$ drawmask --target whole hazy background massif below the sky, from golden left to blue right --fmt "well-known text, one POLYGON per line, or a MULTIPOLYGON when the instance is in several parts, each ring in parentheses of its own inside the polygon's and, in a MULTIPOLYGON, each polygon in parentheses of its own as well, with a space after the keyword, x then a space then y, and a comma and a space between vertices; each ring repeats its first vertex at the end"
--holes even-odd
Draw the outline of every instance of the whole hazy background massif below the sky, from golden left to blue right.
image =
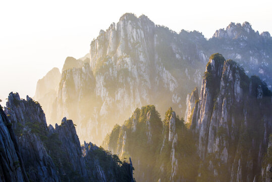
POLYGON ((67 58, 57 99, 41 105, 50 123, 72 118, 81 142, 99 145, 116 123, 143 105, 153 104, 161 113, 171 106, 177 114, 186 114, 187 120, 187 94, 195 86, 200 88, 206 61, 213 53, 235 60, 247 74, 265 79, 269 87, 271 48, 270 34, 255 32, 247 22, 231 23, 206 39, 197 31, 177 33, 144 15, 127 13, 99 32, 88 55, 67 58))

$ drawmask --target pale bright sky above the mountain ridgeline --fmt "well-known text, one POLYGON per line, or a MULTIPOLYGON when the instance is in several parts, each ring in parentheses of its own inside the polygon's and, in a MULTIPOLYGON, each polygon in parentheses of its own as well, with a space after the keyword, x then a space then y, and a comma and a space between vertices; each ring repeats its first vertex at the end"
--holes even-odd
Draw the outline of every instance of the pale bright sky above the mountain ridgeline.
MULTIPOLYGON (((36 82, 65 58, 83 57, 100 29, 127 12, 179 32, 198 30, 209 38, 230 22, 248 21, 272 34, 272 1, 0 1, 0 99, 10 92, 34 96, 36 82)), ((1 104, 1 103, 0 103, 1 104)))

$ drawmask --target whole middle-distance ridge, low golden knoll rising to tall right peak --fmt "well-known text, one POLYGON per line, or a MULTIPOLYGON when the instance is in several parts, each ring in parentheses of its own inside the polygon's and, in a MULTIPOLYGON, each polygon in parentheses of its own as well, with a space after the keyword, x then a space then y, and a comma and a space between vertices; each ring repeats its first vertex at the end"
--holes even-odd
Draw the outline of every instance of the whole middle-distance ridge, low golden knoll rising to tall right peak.
POLYGON ((172 108, 161 120, 145 106, 116 125, 103 147, 131 156, 139 181, 270 181, 271 96, 259 77, 214 54, 199 95, 196 87, 187 97, 186 121, 172 108))

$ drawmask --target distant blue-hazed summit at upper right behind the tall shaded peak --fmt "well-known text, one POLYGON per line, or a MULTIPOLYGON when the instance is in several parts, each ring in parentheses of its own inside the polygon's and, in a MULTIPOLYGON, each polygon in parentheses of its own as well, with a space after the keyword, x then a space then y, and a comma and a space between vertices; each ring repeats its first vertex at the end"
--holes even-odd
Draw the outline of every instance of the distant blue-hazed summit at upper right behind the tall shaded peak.
POLYGON ((270 88, 271 40, 269 32, 259 34, 248 22, 244 22, 242 25, 231 23, 226 29, 216 30, 209 42, 213 45, 213 53, 221 53, 234 60, 247 75, 258 75, 270 88))

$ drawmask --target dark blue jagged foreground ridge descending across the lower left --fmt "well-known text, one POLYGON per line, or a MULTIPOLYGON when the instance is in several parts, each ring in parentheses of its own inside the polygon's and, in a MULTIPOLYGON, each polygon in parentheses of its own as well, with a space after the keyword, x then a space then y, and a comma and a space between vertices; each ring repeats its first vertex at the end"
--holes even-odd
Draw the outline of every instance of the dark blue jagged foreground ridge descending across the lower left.
MULTIPOLYGON (((63 118, 61 125, 47 127, 40 104, 28 96, 27 100, 21 100, 18 93, 11 93, 6 105, 3 115, 7 122, 11 121, 8 126, 15 131, 13 140, 18 141, 19 147, 16 148, 16 144, 15 149, 9 149, 18 153, 17 158, 14 154, 9 156, 14 158, 10 161, 17 161, 14 162, 16 168, 3 166, 6 171, 2 173, 5 177, 13 175, 15 180, 4 181, 133 181, 132 163, 121 162, 118 156, 96 146, 92 152, 88 152, 90 148, 83 150, 72 120, 63 118), (20 179, 24 177, 24 170, 28 177, 20 179)), ((4 141, 6 146, 10 143, 4 141)))

